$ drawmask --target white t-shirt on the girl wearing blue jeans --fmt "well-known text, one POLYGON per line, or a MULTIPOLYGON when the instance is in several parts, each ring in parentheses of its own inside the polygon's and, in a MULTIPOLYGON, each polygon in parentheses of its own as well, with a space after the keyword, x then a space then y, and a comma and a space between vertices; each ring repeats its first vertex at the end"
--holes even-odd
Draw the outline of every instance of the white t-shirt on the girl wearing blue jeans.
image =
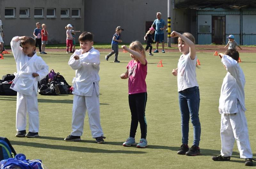
POLYGON ((178 92, 198 86, 196 81, 196 59, 190 59, 189 53, 181 55, 178 62, 178 92))

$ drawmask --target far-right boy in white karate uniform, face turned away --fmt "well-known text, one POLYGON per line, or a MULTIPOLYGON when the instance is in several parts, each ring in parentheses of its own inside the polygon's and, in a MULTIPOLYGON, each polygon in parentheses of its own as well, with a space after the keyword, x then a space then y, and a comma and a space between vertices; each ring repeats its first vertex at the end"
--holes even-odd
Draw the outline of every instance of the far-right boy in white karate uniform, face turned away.
POLYGON ((240 158, 245 158, 245 165, 252 166, 252 150, 249 142, 247 121, 244 114, 244 72, 238 65, 239 53, 236 49, 228 49, 219 57, 228 71, 220 91, 219 112, 221 114, 220 137, 221 151, 219 156, 213 156, 214 161, 229 161, 234 142, 240 158))

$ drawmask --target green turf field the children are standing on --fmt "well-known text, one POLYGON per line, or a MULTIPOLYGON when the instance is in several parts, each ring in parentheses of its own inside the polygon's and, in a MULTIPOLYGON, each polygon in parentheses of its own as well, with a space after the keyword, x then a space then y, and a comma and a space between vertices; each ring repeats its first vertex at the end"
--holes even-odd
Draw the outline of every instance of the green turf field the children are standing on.
MULTIPOLYGON (((242 168, 236 144, 229 162, 212 161, 219 155, 220 114, 218 112, 220 88, 226 70, 213 53, 198 53, 201 66, 196 69, 200 89, 201 155, 189 157, 177 155, 181 145, 180 110, 177 92, 177 77, 172 69, 177 67, 180 53, 154 53, 148 56, 146 118, 148 122, 148 148, 124 147, 129 136, 131 113, 128 104, 128 80, 120 74, 126 71, 131 60, 128 53, 119 53, 121 63, 113 63, 113 56, 105 60, 108 52, 100 54, 100 113, 105 144, 96 144, 89 130, 88 117, 84 123, 84 134, 79 142, 63 139, 71 132, 71 110, 73 95, 38 96, 40 115, 40 137, 15 137, 16 96, 0 96, 0 136, 7 137, 17 153, 29 159, 41 159, 50 168, 242 168), (164 67, 157 67, 159 60, 164 67)), ((256 153, 253 140, 255 128, 255 53, 240 53, 245 85, 246 117, 252 152, 256 153)), ((60 72, 71 84, 75 71, 68 66, 70 54, 52 52, 42 55, 50 69, 60 72)), ((16 71, 12 54, 4 54, 0 60, 1 76, 16 71)), ((28 131, 28 126, 27 126, 28 131)), ((138 127, 136 142, 140 139, 138 127)), ((193 141, 190 123, 189 146, 193 141)), ((253 154, 255 157, 255 154, 253 154)), ((256 163, 255 163, 256 164, 256 163)))

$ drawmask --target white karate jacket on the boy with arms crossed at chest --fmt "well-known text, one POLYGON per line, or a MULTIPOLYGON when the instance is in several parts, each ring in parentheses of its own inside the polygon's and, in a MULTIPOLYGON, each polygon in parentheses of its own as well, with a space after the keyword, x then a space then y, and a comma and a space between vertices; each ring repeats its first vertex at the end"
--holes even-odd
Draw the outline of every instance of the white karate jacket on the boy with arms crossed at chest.
POLYGON ((100 70, 100 52, 92 49, 82 54, 82 49, 76 50, 70 57, 68 65, 76 70, 76 77, 73 78, 73 94, 81 96, 92 96, 93 86, 95 85, 97 95, 99 90, 99 70, 100 70), (78 55, 80 59, 75 60, 78 55))

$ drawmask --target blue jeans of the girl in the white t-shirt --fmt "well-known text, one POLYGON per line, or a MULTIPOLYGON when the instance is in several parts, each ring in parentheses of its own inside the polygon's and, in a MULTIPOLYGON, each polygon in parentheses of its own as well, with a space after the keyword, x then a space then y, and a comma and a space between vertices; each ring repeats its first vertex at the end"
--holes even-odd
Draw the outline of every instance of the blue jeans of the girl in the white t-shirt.
POLYGON ((182 144, 188 144, 189 116, 194 128, 193 145, 199 147, 201 124, 199 121, 200 94, 197 86, 179 92, 182 144))

